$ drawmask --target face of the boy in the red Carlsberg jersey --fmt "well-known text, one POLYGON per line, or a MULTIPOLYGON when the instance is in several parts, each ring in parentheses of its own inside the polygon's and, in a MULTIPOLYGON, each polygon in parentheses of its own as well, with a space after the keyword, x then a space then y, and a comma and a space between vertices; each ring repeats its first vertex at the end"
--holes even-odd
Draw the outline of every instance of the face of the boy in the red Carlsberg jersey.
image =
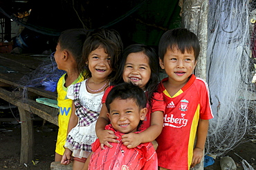
POLYGON ((173 50, 168 48, 163 61, 160 59, 160 65, 165 70, 171 83, 185 85, 196 66, 194 52, 185 50, 184 54, 182 54, 176 47, 173 50))

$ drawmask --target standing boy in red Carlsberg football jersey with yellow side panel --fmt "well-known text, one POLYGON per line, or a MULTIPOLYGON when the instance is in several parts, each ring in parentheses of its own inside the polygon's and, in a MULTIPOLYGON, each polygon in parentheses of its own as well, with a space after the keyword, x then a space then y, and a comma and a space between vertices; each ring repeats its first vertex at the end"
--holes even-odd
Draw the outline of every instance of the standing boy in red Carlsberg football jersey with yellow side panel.
POLYGON ((199 52, 199 40, 187 29, 168 30, 160 39, 160 65, 168 77, 158 87, 166 104, 156 138, 159 169, 188 170, 203 159, 213 116, 208 85, 192 74, 199 52))

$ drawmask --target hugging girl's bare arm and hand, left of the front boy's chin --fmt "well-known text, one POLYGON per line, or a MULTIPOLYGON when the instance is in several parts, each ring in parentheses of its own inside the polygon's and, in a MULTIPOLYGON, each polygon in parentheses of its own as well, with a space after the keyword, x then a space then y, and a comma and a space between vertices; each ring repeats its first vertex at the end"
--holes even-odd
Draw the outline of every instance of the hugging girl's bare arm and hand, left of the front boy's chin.
POLYGON ((111 130, 105 130, 105 126, 109 124, 109 118, 107 117, 107 107, 105 103, 102 104, 100 110, 100 116, 96 123, 96 134, 100 140, 100 147, 104 149, 104 145, 107 147, 112 147, 109 142, 119 142, 115 140, 117 136, 114 135, 114 132, 111 130))

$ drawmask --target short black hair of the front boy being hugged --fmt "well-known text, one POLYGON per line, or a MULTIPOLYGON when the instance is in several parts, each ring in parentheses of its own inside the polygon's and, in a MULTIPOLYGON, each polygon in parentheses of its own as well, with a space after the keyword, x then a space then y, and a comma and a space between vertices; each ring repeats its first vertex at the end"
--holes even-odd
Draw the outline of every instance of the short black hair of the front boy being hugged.
POLYGON ((143 89, 140 89, 138 85, 134 85, 132 83, 120 83, 119 85, 116 85, 110 90, 105 103, 108 111, 110 111, 109 105, 116 98, 122 100, 126 100, 129 98, 131 100, 134 100, 136 105, 138 105, 139 109, 143 109, 147 105, 147 99, 145 93, 143 92, 143 89))

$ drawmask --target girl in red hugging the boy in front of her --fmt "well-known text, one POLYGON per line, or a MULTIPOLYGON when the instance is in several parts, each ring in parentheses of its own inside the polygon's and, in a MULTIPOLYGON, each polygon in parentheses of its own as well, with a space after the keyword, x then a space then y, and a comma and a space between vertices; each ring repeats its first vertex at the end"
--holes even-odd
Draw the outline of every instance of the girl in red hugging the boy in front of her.
POLYGON ((122 52, 122 60, 118 72, 114 77, 113 83, 106 89, 102 97, 102 109, 96 123, 96 134, 100 139, 102 149, 104 145, 111 147, 109 142, 119 142, 112 131, 104 129, 109 124, 105 100, 113 85, 123 82, 131 82, 143 89, 147 96, 147 116, 143 120, 143 125, 141 125, 146 130, 140 134, 125 134, 122 136, 122 142, 127 148, 134 148, 145 142, 154 142, 154 147, 157 147, 155 139, 163 128, 163 111, 165 111, 163 95, 156 92, 159 83, 158 63, 156 52, 147 45, 132 44, 122 52))

